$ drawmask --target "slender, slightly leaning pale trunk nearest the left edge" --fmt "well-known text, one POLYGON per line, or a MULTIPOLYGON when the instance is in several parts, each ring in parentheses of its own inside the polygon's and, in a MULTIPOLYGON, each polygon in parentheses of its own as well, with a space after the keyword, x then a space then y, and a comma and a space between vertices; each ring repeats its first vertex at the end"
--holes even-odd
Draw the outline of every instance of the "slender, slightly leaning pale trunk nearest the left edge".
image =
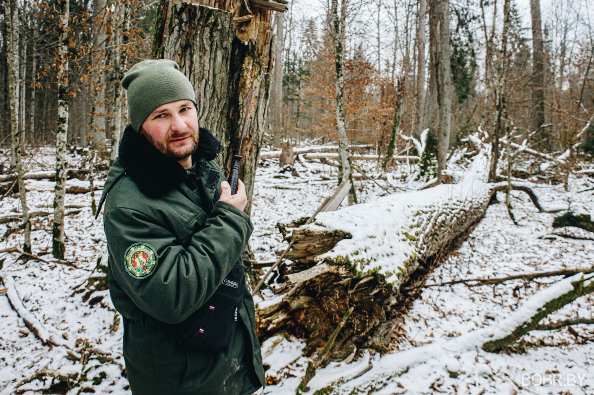
POLYGON ((21 200, 21 211, 23 212, 24 242, 23 251, 31 252, 31 221, 29 209, 27 208, 27 196, 24 187, 24 169, 22 163, 23 145, 21 144, 21 129, 18 128, 18 8, 17 2, 7 0, 4 2, 4 17, 6 21, 6 55, 8 66, 8 95, 10 106, 10 129, 12 143, 12 158, 17 171, 19 197, 21 200))

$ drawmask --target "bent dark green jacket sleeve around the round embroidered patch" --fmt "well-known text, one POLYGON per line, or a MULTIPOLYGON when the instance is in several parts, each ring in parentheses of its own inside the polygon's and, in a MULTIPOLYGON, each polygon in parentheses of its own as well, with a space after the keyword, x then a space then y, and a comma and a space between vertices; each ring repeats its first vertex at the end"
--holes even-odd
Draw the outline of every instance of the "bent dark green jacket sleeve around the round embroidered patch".
POLYGON ((169 324, 184 321, 214 294, 254 230, 247 214, 220 201, 187 248, 176 244, 171 231, 134 209, 109 211, 104 226, 110 270, 118 283, 140 310, 169 324), (156 251, 157 265, 144 278, 126 269, 126 251, 135 243, 156 251))

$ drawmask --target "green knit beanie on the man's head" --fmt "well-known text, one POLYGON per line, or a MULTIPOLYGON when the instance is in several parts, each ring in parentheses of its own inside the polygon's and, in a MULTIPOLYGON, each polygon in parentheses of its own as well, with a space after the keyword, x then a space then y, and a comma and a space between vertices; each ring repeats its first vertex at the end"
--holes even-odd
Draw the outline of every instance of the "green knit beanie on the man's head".
POLYGON ((128 116, 137 132, 150 113, 165 103, 191 100, 197 104, 194 87, 173 60, 136 63, 122 79, 122 87, 127 91, 128 116))

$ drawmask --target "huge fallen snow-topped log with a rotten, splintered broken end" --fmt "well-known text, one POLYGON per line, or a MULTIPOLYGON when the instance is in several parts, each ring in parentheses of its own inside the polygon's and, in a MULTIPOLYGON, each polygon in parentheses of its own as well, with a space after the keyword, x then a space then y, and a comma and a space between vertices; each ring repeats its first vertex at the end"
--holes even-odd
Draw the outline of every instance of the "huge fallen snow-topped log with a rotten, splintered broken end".
POLYGON ((258 305, 260 335, 286 330, 315 348, 354 306, 335 349, 385 348, 403 284, 484 215, 492 195, 487 168, 481 152, 456 184, 321 212, 309 225, 279 224, 294 242, 286 254, 292 271, 301 272, 289 273, 284 292, 258 305))

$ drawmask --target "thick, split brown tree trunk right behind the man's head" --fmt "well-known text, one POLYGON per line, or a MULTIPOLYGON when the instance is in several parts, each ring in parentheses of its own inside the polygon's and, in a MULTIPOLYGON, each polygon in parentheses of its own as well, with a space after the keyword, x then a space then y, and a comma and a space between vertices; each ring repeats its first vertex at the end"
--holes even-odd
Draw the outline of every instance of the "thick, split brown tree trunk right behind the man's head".
POLYGON ((220 8, 162 0, 157 11, 153 58, 175 60, 194 85, 198 100, 198 124, 211 130, 223 144, 217 157, 229 174, 239 144, 245 98, 254 82, 254 117, 246 129, 239 177, 244 181, 251 211, 254 177, 266 125, 272 74, 271 10, 254 8, 244 15, 242 0, 228 0, 220 8), (204 40, 208 37, 208 40, 204 40))

